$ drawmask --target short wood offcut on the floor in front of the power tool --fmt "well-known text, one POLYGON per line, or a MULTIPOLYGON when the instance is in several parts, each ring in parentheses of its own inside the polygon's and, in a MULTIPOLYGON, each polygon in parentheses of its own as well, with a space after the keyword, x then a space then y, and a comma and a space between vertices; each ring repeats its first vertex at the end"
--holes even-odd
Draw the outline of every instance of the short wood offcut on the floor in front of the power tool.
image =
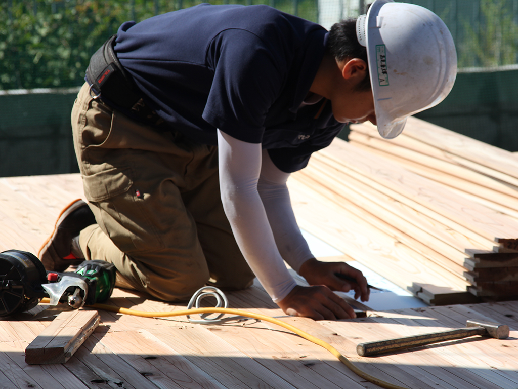
POLYGON ((65 363, 99 325, 97 311, 61 312, 25 349, 28 365, 65 363))

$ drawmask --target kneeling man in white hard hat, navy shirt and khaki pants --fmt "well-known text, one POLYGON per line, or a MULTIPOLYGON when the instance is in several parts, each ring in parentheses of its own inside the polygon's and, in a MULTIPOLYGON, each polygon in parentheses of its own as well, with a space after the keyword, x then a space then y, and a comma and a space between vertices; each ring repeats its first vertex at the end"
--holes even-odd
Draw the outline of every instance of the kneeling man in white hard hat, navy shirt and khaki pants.
POLYGON ((455 74, 444 23, 392 0, 330 32, 264 5, 126 22, 93 55, 72 112, 89 204, 66 207, 39 258, 48 270, 111 262, 119 286, 166 301, 257 277, 287 314, 355 317, 332 290, 366 301, 365 277, 314 258, 286 180, 344 123, 396 136, 455 74))

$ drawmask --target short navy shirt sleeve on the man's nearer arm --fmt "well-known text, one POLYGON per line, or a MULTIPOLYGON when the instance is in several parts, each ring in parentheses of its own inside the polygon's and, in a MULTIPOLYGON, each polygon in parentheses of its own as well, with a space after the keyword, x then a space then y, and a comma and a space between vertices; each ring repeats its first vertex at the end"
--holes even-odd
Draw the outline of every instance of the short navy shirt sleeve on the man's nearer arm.
POLYGON ((286 59, 278 51, 246 30, 215 37, 207 51, 214 78, 204 120, 240 141, 261 143, 266 114, 286 78, 286 59))

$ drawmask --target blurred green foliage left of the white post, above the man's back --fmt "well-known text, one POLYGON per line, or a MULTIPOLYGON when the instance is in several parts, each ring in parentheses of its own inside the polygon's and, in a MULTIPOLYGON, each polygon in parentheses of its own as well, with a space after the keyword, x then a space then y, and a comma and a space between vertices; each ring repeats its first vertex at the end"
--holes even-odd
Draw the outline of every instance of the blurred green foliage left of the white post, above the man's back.
MULTIPOLYGON (((191 7, 201 0, 0 0, 0 90, 80 86, 91 55, 127 20, 191 7)), ((212 0, 212 4, 228 0, 212 0)), ((316 21, 316 0, 270 4, 316 21)))

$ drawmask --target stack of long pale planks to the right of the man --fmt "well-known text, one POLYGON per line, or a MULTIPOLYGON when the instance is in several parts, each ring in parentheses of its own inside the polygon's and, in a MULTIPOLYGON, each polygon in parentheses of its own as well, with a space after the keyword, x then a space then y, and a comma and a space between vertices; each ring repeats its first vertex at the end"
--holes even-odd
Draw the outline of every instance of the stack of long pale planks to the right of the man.
POLYGON ((301 227, 430 304, 516 297, 518 158, 416 118, 394 140, 369 124, 293 175, 301 227))

